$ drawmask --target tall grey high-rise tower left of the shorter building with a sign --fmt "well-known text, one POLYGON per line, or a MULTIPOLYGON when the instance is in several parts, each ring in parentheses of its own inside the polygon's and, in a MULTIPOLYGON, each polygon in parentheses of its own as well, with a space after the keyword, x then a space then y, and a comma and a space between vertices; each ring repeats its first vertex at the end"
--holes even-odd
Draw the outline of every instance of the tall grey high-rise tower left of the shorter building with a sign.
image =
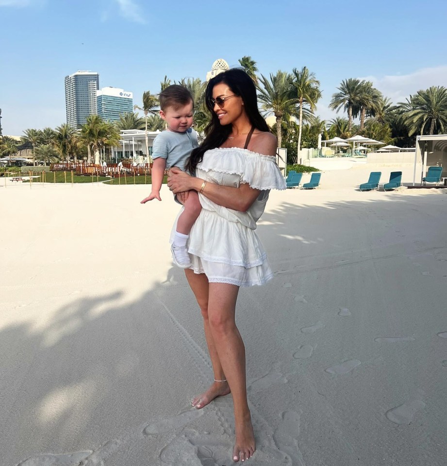
POLYGON ((96 91, 99 89, 99 74, 92 71, 77 71, 65 77, 65 106, 67 123, 79 128, 87 116, 97 115, 96 91))

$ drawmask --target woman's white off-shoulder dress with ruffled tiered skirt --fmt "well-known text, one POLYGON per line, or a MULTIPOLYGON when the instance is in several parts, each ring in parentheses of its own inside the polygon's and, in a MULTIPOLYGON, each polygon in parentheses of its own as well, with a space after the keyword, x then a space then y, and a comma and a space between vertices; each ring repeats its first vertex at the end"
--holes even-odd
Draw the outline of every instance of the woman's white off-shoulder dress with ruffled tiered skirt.
MULTIPOLYGON (((275 157, 240 148, 207 150, 197 166, 196 176, 224 186, 248 183, 261 193, 247 212, 223 207, 199 194, 202 210, 187 242, 190 268, 195 273, 205 273, 210 283, 252 286, 270 280, 273 273, 254 230, 270 189, 286 188, 275 157)), ((182 211, 183 208, 179 216, 182 211)), ((177 219, 171 243, 176 227, 177 219)))

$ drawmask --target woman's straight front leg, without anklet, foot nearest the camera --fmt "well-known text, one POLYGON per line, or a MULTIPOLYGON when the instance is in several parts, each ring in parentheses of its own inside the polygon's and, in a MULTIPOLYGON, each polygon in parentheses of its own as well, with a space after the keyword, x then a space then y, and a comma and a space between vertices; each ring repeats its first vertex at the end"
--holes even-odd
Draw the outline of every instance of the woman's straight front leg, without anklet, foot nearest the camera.
POLYGON ((236 433, 233 460, 245 461, 255 450, 255 440, 247 402, 245 347, 235 322, 239 287, 228 283, 208 286, 209 329, 233 397, 236 433))

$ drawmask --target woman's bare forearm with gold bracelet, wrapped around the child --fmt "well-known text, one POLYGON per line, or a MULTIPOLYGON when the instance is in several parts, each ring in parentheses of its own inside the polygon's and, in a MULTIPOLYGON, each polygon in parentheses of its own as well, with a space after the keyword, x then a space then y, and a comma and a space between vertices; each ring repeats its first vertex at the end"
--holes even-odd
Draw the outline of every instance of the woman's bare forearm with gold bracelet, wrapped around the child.
MULTIPOLYGON (((200 192, 204 180, 190 176, 177 167, 169 170, 170 176, 167 185, 174 194, 189 191, 191 189, 200 192)), ((232 186, 222 186, 220 184, 207 182, 202 194, 218 205, 229 209, 246 212, 251 204, 256 200, 261 191, 250 188, 247 183, 241 184, 238 188, 232 186)))

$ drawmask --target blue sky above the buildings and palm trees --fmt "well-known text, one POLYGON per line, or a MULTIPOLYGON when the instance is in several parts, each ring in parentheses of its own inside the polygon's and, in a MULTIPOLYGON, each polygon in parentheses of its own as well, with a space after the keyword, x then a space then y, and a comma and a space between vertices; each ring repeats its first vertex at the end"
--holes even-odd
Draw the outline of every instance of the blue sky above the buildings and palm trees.
POLYGON ((0 0, 3 134, 66 122, 64 77, 79 69, 141 104, 165 75, 205 80, 217 58, 237 66, 244 55, 264 75, 315 72, 322 118, 347 78, 402 101, 447 86, 446 18, 446 0, 0 0))

